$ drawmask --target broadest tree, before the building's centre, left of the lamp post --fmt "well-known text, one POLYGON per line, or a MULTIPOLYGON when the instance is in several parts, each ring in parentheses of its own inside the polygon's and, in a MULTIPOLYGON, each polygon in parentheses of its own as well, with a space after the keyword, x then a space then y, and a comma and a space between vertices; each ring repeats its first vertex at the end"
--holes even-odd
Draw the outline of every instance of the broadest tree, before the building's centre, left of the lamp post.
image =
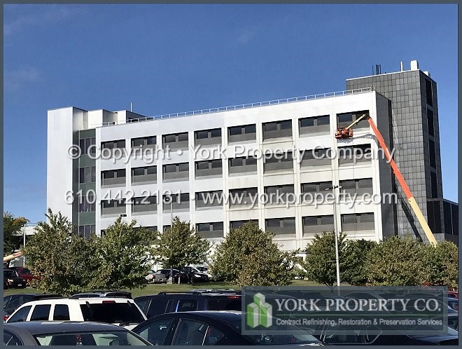
POLYGON ((297 251, 281 251, 273 237, 250 221, 231 229, 212 256, 212 270, 241 286, 288 285, 297 251))

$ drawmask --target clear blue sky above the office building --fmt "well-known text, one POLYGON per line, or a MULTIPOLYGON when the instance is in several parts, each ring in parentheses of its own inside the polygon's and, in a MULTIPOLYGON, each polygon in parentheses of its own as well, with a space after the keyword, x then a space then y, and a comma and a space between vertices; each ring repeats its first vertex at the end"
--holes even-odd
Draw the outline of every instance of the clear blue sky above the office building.
POLYGON ((4 210, 45 219, 47 110, 147 116, 345 90, 409 69, 437 82, 444 197, 457 200, 457 6, 4 5, 4 210))

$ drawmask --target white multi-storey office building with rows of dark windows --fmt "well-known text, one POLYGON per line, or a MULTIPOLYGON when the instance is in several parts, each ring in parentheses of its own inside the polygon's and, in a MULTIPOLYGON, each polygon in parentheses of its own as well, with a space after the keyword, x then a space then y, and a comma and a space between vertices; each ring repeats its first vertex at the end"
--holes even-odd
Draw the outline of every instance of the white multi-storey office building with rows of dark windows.
MULTIPOLYGON (((363 114, 391 149, 407 137, 395 131, 393 96, 371 86, 155 117, 50 110, 47 205, 71 217, 85 236, 104 232, 118 217, 162 231, 175 216, 217 242, 230 228, 255 221, 284 249, 304 248, 316 233, 334 229, 371 240, 411 233, 367 121, 355 126, 353 139, 334 137, 337 126, 363 114), (332 200, 332 191, 343 196, 332 200)), ((437 113, 434 123, 436 142, 437 113)), ((415 169, 430 173, 430 159, 421 167, 400 156, 405 178, 415 169)), ((434 160, 440 165, 439 153, 434 160)))

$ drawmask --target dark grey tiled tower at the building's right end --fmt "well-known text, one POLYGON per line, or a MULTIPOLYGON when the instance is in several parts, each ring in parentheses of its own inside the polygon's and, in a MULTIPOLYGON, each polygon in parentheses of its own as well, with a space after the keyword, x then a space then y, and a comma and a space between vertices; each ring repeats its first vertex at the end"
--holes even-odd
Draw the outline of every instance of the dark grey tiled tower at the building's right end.
MULTIPOLYGON (((348 79, 346 88, 372 87, 391 101, 394 159, 436 240, 442 241, 448 237, 444 236, 437 88, 413 62, 412 70, 348 79)), ((427 241, 399 184, 395 192, 401 198, 399 234, 427 241)))

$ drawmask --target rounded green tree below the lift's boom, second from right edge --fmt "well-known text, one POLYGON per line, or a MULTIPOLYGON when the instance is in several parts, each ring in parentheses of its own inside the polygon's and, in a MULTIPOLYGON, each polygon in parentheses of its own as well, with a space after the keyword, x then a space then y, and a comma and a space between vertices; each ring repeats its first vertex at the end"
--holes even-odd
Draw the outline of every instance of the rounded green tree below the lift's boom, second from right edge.
POLYGON ((416 286, 428 278, 423 264, 426 247, 411 236, 387 238, 370 252, 367 265, 371 285, 416 286))

